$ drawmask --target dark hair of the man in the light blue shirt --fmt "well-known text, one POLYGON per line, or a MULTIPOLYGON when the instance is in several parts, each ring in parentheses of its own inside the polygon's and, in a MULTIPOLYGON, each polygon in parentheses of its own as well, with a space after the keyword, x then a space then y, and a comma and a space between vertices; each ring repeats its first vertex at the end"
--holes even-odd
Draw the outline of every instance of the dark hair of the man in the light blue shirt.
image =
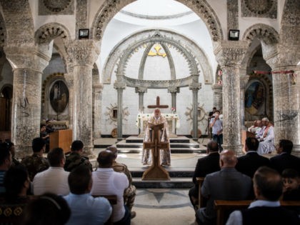
POLYGON ((76 166, 68 177, 68 184, 72 194, 84 194, 91 182, 91 171, 86 165, 76 166))

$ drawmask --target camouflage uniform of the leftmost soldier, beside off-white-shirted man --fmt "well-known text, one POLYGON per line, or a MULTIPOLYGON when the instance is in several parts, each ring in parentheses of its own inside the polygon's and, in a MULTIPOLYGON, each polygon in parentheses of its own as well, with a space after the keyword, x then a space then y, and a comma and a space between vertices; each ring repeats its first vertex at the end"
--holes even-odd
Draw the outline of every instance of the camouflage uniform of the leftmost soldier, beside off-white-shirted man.
POLYGON ((22 159, 21 164, 28 170, 29 179, 31 181, 34 180, 34 176, 36 176, 37 173, 49 168, 48 160, 35 153, 32 154, 32 156, 26 156, 22 159))

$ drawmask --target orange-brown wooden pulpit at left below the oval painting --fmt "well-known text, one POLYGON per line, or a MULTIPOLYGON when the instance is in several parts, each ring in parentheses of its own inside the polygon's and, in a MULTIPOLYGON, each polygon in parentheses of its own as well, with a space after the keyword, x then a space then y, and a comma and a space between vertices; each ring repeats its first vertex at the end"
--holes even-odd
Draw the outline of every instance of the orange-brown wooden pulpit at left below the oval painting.
POLYGON ((50 150, 54 148, 64 149, 64 153, 71 151, 72 130, 58 130, 49 134, 50 150))

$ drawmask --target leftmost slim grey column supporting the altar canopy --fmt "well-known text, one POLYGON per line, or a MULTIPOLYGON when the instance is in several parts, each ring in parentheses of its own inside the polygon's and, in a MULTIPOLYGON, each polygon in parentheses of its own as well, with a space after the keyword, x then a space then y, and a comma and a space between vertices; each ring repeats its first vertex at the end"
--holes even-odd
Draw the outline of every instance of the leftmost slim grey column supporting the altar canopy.
POLYGON ((126 88, 126 84, 121 81, 114 83, 114 89, 117 91, 117 139, 121 141, 123 139, 123 90, 126 88))

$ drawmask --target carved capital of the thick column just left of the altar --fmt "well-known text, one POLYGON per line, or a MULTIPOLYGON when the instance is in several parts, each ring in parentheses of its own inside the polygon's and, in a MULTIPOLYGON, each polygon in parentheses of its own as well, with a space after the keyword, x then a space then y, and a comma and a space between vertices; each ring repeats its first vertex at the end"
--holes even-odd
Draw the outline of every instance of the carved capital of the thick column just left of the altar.
POLYGON ((68 61, 73 65, 93 66, 100 54, 99 43, 94 40, 70 40, 66 46, 68 61))

